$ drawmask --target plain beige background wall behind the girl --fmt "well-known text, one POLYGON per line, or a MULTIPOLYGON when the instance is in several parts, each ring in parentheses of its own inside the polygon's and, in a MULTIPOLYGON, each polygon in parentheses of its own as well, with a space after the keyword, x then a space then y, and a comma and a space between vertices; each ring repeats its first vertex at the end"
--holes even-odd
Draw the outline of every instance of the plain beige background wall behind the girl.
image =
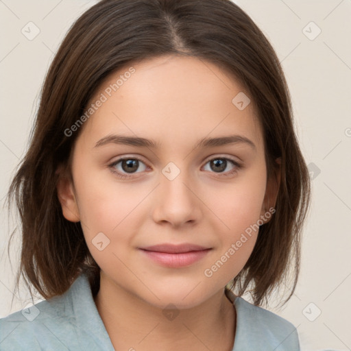
MULTIPOLYGON (((96 2, 0 0, 1 206, 27 147, 53 54, 73 21, 96 2), (38 35, 28 38, 28 32, 38 35)), ((291 90, 295 129, 313 179, 298 287, 283 308, 270 309, 298 328, 302 350, 350 350, 351 1, 234 2, 278 53, 291 90)), ((11 308, 21 243, 17 234, 12 270, 6 209, 0 220, 0 317, 5 317, 24 308, 29 295, 23 289, 16 293, 11 308)))

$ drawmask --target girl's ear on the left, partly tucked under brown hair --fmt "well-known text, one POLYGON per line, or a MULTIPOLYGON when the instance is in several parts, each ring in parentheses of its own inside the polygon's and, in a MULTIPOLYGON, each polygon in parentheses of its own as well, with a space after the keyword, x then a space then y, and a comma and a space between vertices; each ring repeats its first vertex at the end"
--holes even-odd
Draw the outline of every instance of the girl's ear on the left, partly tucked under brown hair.
POLYGON ((73 181, 67 173, 62 165, 56 170, 56 174, 58 174, 58 200, 60 201, 64 218, 71 222, 79 222, 80 215, 73 190, 73 181))

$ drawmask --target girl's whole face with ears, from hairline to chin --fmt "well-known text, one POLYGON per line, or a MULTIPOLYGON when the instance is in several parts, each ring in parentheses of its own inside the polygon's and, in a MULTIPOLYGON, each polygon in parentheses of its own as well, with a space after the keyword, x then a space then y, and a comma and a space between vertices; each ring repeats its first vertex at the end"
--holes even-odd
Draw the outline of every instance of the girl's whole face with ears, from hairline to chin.
POLYGON ((73 183, 58 186, 62 211, 119 289, 190 308, 239 274, 271 217, 263 131, 249 94, 210 62, 164 56, 133 68, 89 103, 73 183))

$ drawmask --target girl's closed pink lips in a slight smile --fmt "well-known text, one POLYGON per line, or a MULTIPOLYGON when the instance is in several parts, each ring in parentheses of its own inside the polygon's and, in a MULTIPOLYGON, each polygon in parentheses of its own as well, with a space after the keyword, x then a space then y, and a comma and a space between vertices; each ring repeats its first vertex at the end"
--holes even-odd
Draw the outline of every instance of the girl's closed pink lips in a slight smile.
POLYGON ((201 260, 212 248, 185 243, 181 245, 160 244, 140 247, 139 250, 159 265, 180 268, 201 260))

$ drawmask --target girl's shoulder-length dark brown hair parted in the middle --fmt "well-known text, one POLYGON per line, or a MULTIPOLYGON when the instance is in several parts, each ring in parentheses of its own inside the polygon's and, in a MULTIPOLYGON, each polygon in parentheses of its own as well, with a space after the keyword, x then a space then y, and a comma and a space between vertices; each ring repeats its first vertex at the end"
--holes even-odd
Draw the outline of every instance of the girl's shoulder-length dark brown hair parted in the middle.
POLYGON ((237 295, 251 287, 254 304, 260 305, 292 267, 287 300, 291 298, 311 196, 308 169, 276 53, 252 19, 229 0, 103 0, 75 21, 45 78, 29 149, 8 191, 9 208, 14 199, 22 227, 17 288, 22 275, 31 295, 30 283, 49 299, 86 271, 93 294, 99 289, 100 269, 82 227, 63 217, 58 200, 56 171, 62 165, 71 177, 71 150, 82 128, 69 137, 64 131, 84 114, 108 75, 132 62, 169 54, 224 67, 250 93, 263 126, 267 176, 274 174, 280 158, 281 182, 276 213, 261 226, 233 284, 237 295))

